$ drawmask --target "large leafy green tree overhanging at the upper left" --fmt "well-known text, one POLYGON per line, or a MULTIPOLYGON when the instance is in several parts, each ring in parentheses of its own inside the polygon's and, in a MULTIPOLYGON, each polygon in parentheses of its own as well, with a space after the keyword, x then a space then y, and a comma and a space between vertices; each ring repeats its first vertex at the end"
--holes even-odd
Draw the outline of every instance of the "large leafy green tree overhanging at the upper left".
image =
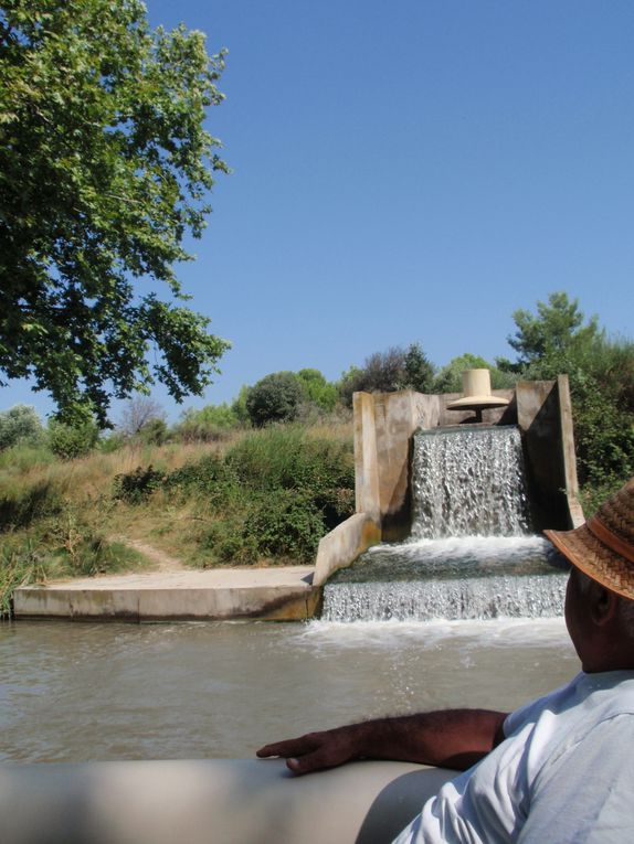
POLYGON ((228 170, 203 129, 223 63, 140 0, 0 2, 0 376, 62 418, 106 425, 112 394, 182 400, 218 371, 228 343, 173 265, 228 170))

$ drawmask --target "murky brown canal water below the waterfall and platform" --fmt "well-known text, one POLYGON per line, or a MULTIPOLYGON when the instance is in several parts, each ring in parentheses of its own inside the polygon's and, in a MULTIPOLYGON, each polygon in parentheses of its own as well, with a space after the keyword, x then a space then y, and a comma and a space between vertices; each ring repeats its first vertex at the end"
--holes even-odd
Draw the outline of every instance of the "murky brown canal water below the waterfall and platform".
POLYGON ((513 708, 578 670, 561 619, 0 623, 0 760, 244 758, 366 716, 513 708))

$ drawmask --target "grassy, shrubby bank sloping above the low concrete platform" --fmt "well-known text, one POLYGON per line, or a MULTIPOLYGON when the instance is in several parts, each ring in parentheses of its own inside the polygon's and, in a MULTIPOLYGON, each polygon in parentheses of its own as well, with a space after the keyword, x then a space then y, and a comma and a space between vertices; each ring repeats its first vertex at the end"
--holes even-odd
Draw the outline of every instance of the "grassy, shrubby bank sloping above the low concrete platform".
POLYGON ((147 566, 131 543, 198 567, 310 563, 353 512, 353 488, 351 426, 341 423, 67 461, 10 449, 0 462, 0 615, 20 584, 147 566))

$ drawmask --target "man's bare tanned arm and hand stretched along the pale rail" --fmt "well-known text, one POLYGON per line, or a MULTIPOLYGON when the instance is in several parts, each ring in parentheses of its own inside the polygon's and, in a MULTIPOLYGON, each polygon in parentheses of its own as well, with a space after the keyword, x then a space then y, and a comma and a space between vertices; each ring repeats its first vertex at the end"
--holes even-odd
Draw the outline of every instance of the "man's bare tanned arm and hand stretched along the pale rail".
POLYGON ((465 770, 504 739, 505 718, 506 713, 490 709, 381 718, 265 745, 257 756, 281 756, 294 773, 334 768, 352 759, 390 759, 465 770))

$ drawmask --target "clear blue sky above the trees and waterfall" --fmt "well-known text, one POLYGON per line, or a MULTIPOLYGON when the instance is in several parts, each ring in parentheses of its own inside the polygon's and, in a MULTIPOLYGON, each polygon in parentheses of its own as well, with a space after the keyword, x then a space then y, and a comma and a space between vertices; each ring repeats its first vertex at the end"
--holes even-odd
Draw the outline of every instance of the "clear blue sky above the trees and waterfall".
MULTIPOLYGON (((513 311, 554 290, 632 336, 631 0, 147 6, 230 51, 209 129, 233 173, 181 279, 233 349, 183 407, 415 341, 437 365, 513 356, 513 311)), ((0 391, 18 402, 51 410, 0 391)))

